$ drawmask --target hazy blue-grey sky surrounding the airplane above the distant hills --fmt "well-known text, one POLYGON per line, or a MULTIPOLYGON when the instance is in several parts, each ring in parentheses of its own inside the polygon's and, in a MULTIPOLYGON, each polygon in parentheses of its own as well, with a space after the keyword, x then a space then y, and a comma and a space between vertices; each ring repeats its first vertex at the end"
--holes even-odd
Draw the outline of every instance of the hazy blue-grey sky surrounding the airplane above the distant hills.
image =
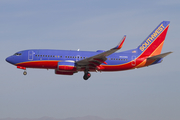
POLYGON ((95 115, 125 120, 180 118, 178 0, 1 0, 0 118, 95 115), (122 72, 55 75, 22 70, 5 58, 25 49, 108 50, 137 47, 163 20, 170 27, 161 64, 122 72))

